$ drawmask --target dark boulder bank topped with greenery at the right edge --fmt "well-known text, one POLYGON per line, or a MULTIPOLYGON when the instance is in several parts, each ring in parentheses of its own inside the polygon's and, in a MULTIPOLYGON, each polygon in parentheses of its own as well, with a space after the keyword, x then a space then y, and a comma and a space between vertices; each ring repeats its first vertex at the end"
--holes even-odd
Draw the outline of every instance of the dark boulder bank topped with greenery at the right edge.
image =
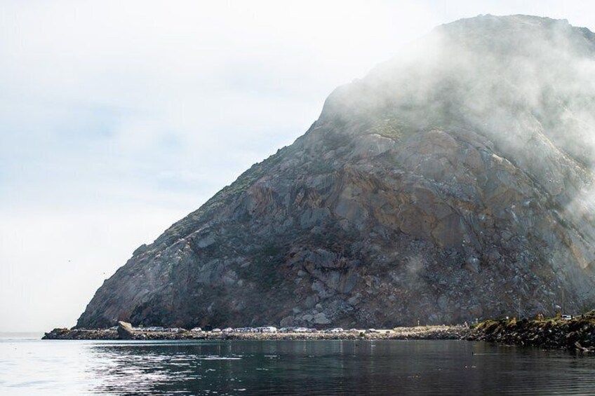
POLYGON ((466 339, 595 352, 595 311, 570 320, 487 320, 474 327, 466 339))

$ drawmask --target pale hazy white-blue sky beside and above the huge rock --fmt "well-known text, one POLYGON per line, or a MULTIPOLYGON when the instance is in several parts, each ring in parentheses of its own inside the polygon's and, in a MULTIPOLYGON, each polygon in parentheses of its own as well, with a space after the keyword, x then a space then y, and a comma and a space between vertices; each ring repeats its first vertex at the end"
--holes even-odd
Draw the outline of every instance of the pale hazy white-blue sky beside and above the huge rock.
POLYGON ((142 243, 432 27, 592 1, 0 0, 0 332, 70 327, 142 243))

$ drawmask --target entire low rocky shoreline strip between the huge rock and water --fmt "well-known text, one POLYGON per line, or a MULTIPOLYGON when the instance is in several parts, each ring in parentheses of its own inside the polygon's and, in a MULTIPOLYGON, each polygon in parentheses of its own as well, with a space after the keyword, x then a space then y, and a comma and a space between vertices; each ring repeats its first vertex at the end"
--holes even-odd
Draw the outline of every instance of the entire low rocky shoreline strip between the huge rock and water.
POLYGON ((310 332, 141 331, 119 322, 111 329, 53 329, 44 340, 465 340, 509 346, 595 352, 595 310, 565 318, 486 320, 463 325, 395 327, 394 329, 314 330, 310 332))

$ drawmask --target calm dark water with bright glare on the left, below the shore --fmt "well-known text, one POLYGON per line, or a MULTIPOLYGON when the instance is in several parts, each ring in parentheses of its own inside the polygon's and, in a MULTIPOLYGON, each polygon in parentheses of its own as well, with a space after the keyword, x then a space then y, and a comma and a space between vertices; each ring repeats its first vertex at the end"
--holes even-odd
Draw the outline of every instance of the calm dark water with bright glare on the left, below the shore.
POLYGON ((0 339, 0 395, 595 394, 595 356, 467 341, 0 339))

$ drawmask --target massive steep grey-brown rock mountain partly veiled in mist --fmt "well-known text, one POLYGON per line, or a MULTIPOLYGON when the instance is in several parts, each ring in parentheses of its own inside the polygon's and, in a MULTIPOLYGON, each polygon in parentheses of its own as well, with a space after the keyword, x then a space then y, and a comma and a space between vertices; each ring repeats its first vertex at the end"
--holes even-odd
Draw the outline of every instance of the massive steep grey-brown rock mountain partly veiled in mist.
POLYGON ((481 16, 335 90, 173 224, 78 327, 394 326, 595 301, 595 35, 481 16))

